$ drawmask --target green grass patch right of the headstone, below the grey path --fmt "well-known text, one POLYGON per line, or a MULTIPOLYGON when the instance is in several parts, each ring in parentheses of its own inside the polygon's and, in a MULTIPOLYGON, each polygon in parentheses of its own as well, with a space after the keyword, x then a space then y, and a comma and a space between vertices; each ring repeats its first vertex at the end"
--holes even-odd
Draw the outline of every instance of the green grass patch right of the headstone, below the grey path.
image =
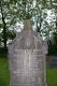
POLYGON ((57 86, 57 69, 47 69, 47 86, 57 86))

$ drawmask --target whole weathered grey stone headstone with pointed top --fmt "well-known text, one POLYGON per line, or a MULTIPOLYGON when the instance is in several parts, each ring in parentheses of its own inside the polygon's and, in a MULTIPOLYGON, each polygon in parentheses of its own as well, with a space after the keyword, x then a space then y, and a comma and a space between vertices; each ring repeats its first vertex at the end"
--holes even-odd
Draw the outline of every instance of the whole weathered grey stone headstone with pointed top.
POLYGON ((46 86, 46 44, 31 29, 30 20, 9 45, 10 86, 46 86))

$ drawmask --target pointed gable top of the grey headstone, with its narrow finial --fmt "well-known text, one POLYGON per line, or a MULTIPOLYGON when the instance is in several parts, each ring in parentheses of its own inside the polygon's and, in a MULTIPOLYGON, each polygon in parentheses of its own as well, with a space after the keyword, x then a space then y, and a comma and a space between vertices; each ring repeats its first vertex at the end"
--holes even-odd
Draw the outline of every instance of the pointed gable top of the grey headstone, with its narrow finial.
POLYGON ((17 34, 15 40, 12 43, 11 48, 14 49, 42 49, 43 41, 40 37, 40 33, 37 34, 31 29, 30 19, 25 20, 25 29, 17 34))

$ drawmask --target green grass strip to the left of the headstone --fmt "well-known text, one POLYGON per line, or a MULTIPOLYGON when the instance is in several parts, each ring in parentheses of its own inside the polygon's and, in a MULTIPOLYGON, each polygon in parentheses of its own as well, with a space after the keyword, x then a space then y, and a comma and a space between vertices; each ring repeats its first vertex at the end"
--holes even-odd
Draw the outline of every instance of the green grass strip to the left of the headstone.
POLYGON ((10 73, 9 73, 9 63, 8 58, 0 56, 0 86, 9 86, 10 73))

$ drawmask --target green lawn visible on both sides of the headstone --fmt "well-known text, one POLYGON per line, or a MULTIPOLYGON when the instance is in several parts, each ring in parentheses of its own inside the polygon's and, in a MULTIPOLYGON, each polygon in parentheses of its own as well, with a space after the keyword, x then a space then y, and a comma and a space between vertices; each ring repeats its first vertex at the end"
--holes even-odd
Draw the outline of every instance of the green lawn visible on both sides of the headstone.
MULTIPOLYGON (((47 69, 47 86, 57 86, 57 69, 47 69)), ((10 71, 6 55, 0 55, 0 86, 9 86, 10 71)))

